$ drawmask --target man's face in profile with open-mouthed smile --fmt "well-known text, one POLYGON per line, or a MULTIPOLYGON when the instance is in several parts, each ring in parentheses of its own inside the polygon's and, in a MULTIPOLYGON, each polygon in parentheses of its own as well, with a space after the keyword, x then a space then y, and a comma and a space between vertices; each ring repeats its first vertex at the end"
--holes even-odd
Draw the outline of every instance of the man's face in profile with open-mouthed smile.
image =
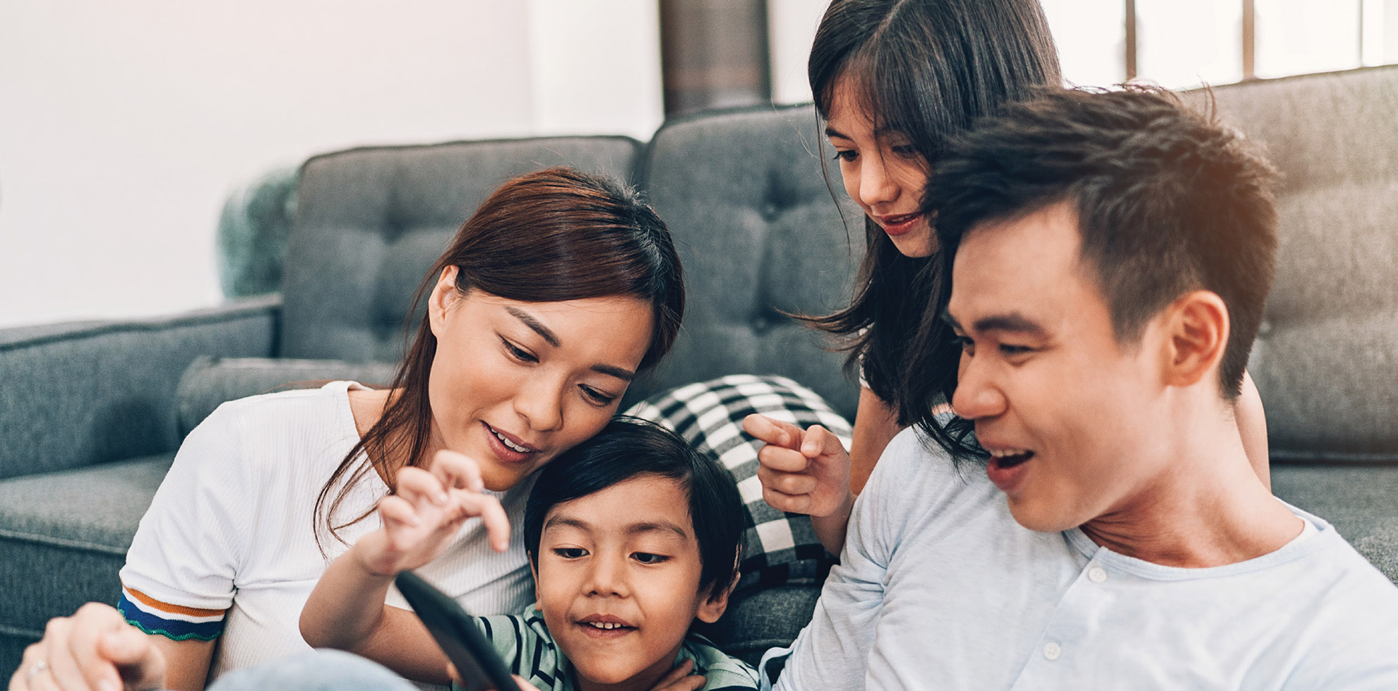
POLYGON ((1067 530, 1125 511, 1167 470, 1159 329, 1120 346, 1067 203, 962 241, 948 316, 962 340, 952 407, 991 452, 1015 520, 1067 530))

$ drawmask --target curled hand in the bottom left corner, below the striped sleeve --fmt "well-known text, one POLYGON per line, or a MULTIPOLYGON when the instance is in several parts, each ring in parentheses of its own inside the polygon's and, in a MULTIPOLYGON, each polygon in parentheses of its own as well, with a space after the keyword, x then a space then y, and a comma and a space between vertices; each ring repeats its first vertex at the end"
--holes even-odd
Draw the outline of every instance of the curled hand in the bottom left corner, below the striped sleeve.
POLYGON ((120 691, 165 688, 165 656, 122 613, 87 603, 49 620, 43 639, 24 650, 10 691, 120 691))

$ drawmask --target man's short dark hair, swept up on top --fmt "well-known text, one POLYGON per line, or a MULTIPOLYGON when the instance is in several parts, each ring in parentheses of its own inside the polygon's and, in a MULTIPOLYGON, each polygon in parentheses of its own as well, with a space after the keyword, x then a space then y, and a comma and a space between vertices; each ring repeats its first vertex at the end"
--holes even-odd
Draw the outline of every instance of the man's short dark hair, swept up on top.
MULTIPOLYGON (((942 290, 923 318, 909 375, 944 389, 924 389, 924 400, 951 400, 958 354, 935 325, 960 239, 1064 201, 1076 211, 1082 257, 1096 270, 1118 343, 1139 341, 1184 292, 1223 298, 1232 330, 1219 387, 1236 399, 1276 267, 1274 179, 1257 147, 1160 88, 1044 90, 1008 106, 960 137, 928 180, 925 210, 937 214, 941 246, 930 269, 942 290)), ((920 424, 937 422, 928 413, 920 424)))

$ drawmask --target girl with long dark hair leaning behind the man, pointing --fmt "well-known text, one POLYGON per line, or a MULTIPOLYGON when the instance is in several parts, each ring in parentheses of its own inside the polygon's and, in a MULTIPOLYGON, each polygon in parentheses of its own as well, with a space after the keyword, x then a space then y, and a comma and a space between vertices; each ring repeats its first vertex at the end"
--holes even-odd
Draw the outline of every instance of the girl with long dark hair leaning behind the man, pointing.
MULTIPOLYGON (((867 214, 867 253, 851 305, 811 319, 851 339, 849 361, 861 375, 854 439, 846 453, 823 428, 801 431, 761 415, 744 427, 768 442, 758 473, 768 504, 809 513, 821 541, 837 554, 854 495, 884 448, 930 403, 944 403, 921 400, 902 379, 932 298, 925 270, 937 238, 921 214, 928 171, 945 143, 977 117, 1062 77, 1036 0, 833 0, 808 73, 844 190, 867 214)), ((949 330, 945 336, 951 341, 949 330)), ((1251 378, 1236 417, 1248 459, 1269 484, 1267 422, 1251 378)), ((927 432, 956 448, 967 431, 952 424, 927 432)))

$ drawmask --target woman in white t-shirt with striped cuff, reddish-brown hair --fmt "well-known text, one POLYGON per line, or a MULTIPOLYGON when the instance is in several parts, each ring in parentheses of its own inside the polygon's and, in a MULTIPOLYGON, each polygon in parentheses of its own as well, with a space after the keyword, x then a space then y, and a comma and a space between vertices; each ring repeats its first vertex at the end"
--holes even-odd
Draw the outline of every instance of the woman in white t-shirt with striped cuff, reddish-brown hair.
MULTIPOLYGON (((607 424, 684 312, 679 259, 654 211, 563 168, 491 194, 433 264, 424 298, 391 387, 333 382, 243 399, 192 432, 122 569, 122 613, 148 636, 87 606, 82 622, 50 624, 15 680, 119 684, 95 660, 105 650, 192 690, 309 649, 302 604, 326 564, 377 527, 375 504, 401 469, 466 453, 491 491, 487 522, 517 523, 531 473, 607 424)), ((480 611, 533 599, 517 532, 491 541, 475 525, 428 571, 480 611)))

